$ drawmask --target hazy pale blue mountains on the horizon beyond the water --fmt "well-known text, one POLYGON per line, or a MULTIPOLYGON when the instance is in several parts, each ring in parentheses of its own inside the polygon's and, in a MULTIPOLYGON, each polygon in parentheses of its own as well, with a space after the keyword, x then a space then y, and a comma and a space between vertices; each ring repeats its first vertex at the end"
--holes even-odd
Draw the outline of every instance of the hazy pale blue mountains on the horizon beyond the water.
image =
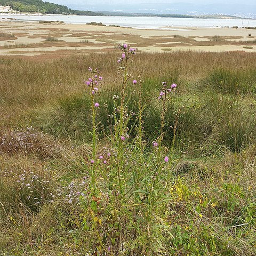
MULTIPOLYGON (((54 0, 49 0, 54 1, 54 0)), ((60 2, 60 0, 58 0, 60 2)), ((214 14, 223 14, 223 15, 232 15, 244 18, 256 18, 256 1, 241 1, 241 3, 236 4, 228 4, 225 1, 221 3, 213 3, 209 4, 210 1, 194 1, 200 2, 196 3, 186 3, 184 1, 170 1, 171 3, 166 3, 164 0, 162 3, 161 0, 156 1, 156 3, 152 3, 152 1, 148 1, 149 3, 134 3, 135 1, 127 1, 125 4, 116 3, 117 1, 113 0, 113 3, 107 3, 105 1, 94 0, 91 1, 90 5, 85 4, 86 1, 71 1, 71 0, 63 0, 63 3, 67 4, 70 8, 76 10, 90 10, 94 12, 117 12, 117 13, 154 13, 154 14, 183 14, 183 15, 214 15, 214 14), (101 3, 100 3, 101 2, 101 3), (150 3, 151 2, 151 3, 150 3), (174 3, 173 3, 174 2, 174 3), (208 2, 208 4, 207 4, 208 2), (246 3, 247 2, 247 3, 246 3)), ((146 2, 146 1, 145 1, 146 2)), ((212 1, 212 2, 220 2, 220 1, 212 1)))

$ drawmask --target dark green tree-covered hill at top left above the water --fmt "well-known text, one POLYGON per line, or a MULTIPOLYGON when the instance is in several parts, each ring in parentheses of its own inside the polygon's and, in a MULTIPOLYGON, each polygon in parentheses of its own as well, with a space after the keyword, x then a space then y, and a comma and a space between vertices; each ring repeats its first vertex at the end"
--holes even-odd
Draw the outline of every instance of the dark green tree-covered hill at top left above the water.
POLYGON ((19 12, 41 12, 51 14, 102 15, 99 12, 71 10, 65 5, 43 2, 42 0, 0 0, 0 5, 10 5, 19 12))

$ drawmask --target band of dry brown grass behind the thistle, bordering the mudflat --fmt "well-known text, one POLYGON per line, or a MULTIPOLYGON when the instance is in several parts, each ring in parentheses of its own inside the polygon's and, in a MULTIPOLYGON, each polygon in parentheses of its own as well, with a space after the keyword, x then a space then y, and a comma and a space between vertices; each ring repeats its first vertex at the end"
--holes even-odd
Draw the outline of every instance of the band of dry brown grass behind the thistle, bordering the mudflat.
MULTIPOLYGON (((116 69, 118 56, 118 50, 103 49, 99 53, 95 50, 59 50, 37 57, 3 57, 0 66, 0 121, 7 122, 30 107, 83 92, 83 81, 89 66, 99 67, 106 86, 113 84, 113 70, 116 69)), ((178 70, 180 77, 196 82, 214 68, 251 69, 255 58, 256 53, 246 52, 181 51, 138 53, 134 61, 140 70, 145 70, 144 77, 162 79, 178 70)), ((134 71, 135 74, 139 72, 134 71)))

